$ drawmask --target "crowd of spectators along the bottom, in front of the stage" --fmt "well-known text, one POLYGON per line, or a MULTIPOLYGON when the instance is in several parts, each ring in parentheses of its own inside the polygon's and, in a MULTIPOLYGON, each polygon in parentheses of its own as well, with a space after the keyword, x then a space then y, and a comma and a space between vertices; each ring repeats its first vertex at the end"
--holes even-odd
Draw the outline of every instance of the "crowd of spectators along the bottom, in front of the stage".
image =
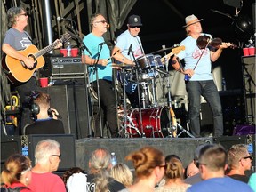
POLYGON ((199 172, 194 174, 188 173, 189 164, 185 166, 179 156, 164 156, 160 149, 145 146, 127 154, 125 162, 115 165, 107 148, 97 148, 92 151, 89 170, 70 167, 57 175, 53 172, 61 164, 60 148, 56 140, 40 140, 35 148, 33 167, 28 156, 9 156, 1 174, 1 191, 4 188, 22 192, 256 191, 252 156, 242 144, 228 150, 220 144, 199 145, 193 159, 199 172), (133 167, 129 168, 127 161, 132 161, 133 167), (188 180, 192 177, 196 179, 188 180))

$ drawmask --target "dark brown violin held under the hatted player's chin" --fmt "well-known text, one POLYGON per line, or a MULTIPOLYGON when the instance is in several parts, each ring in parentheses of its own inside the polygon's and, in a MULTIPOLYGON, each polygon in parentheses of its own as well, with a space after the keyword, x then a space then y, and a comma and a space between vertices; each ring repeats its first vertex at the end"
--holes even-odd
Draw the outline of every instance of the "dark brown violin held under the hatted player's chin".
MULTIPOLYGON (((210 36, 199 36, 196 39, 196 45, 199 49, 205 49, 206 47, 209 48, 212 52, 215 52, 220 48, 220 45, 222 44, 221 38, 213 38, 211 40, 210 36)), ((231 44, 229 47, 236 48, 237 46, 235 44, 231 44)))

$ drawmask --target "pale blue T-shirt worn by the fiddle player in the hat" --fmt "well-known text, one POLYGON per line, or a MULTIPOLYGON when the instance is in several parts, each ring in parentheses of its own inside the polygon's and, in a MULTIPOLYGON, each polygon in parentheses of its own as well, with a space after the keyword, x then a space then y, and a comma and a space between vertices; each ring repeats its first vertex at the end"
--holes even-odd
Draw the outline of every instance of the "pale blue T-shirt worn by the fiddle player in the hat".
MULTIPOLYGON (((212 38, 211 35, 206 35, 212 38)), ((210 50, 208 48, 206 48, 205 50, 199 49, 196 45, 196 39, 191 36, 187 36, 180 43, 180 46, 181 45, 185 46, 185 50, 181 51, 179 54, 177 54, 177 56, 180 58, 180 60, 184 59, 185 70, 188 68, 194 69, 202 52, 204 52, 195 68, 195 74, 190 78, 189 81, 212 80, 212 61, 210 58, 210 50)))

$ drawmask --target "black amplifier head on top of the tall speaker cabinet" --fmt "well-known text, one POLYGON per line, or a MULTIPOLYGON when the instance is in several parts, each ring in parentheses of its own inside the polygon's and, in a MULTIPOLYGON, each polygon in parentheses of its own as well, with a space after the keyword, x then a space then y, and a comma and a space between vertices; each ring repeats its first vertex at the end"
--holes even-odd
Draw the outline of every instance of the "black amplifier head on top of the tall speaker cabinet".
POLYGON ((83 78, 85 65, 81 57, 45 57, 41 76, 52 76, 52 79, 83 78))

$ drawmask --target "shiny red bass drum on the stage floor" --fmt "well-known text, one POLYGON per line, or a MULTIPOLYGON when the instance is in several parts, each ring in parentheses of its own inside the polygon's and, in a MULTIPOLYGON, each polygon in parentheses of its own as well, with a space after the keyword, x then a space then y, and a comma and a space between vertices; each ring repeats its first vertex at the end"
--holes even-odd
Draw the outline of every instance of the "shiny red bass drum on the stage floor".
POLYGON ((126 135, 129 138, 141 137, 164 138, 176 129, 177 121, 172 108, 156 107, 141 109, 142 124, 140 124, 139 108, 132 109, 127 115, 126 135))

